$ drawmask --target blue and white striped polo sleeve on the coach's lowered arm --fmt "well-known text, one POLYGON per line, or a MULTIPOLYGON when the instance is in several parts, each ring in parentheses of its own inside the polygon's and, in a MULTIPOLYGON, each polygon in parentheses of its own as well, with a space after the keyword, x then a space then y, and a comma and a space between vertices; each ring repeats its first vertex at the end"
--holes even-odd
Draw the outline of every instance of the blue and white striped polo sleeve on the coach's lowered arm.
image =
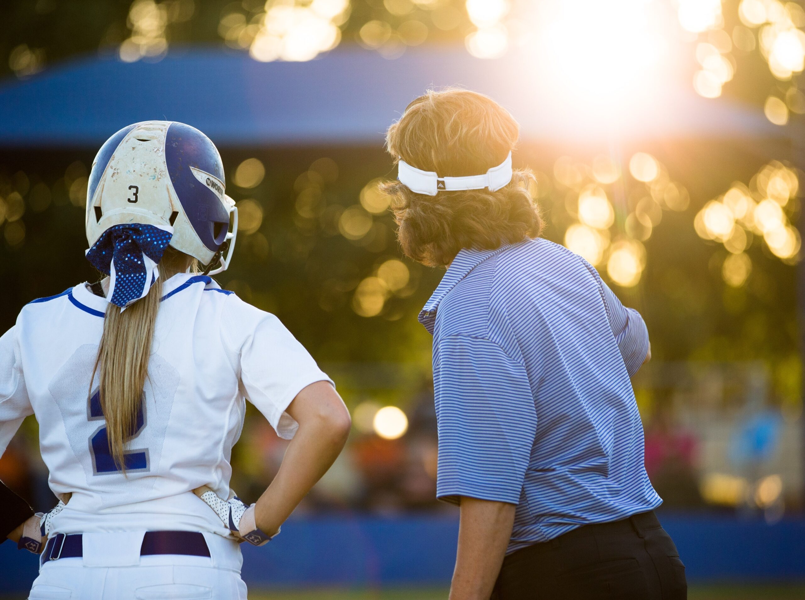
POLYGON ((433 362, 436 496, 518 504, 537 429, 525 367, 493 341, 464 335, 437 340, 433 362))

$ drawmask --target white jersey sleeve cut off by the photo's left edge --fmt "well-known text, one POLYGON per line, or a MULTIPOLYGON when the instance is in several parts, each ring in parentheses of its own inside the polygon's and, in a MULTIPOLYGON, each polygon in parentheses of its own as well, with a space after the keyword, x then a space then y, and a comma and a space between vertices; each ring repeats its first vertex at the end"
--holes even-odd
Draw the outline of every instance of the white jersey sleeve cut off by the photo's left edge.
POLYGON ((15 325, 0 337, 0 456, 6 452, 23 419, 33 413, 15 325))

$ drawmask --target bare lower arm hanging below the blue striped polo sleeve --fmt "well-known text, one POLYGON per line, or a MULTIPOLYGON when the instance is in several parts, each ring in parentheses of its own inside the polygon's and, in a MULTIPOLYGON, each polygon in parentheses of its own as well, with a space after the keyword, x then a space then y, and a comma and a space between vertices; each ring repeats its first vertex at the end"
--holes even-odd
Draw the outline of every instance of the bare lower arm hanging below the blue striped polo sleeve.
POLYGON ((514 504, 463 497, 450 600, 488 600, 514 526, 514 504))

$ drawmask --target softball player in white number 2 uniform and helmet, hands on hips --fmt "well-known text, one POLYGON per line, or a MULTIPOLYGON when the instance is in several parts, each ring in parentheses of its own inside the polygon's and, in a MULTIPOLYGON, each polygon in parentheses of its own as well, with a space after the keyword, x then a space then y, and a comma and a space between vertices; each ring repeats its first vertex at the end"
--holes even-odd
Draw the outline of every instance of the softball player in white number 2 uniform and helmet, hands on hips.
POLYGON ((34 300, 0 338, 0 453, 34 414, 60 499, 11 534, 41 552, 30 598, 246 598, 238 542, 279 532, 349 413, 276 317, 209 277, 229 266, 237 209, 200 131, 150 121, 109 138, 86 233, 109 276, 34 300), (229 490, 245 399, 292 439, 250 507, 229 490))

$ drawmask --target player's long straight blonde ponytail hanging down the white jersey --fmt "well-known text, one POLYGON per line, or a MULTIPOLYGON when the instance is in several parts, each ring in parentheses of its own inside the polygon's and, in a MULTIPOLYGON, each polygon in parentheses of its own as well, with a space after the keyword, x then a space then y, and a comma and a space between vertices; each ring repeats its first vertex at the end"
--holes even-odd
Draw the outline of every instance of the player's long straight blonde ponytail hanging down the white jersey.
MULTIPOLYGON (((126 441, 134 435, 142 391, 148 376, 151 341, 162 298, 163 280, 176 273, 195 271, 196 261, 170 246, 159 261, 159 278, 147 296, 131 304, 125 311, 109 302, 103 322, 103 335, 93 369, 100 382, 101 410, 106 419, 109 450, 124 473, 126 441)), ((93 390, 90 387, 90 395, 93 390)))

